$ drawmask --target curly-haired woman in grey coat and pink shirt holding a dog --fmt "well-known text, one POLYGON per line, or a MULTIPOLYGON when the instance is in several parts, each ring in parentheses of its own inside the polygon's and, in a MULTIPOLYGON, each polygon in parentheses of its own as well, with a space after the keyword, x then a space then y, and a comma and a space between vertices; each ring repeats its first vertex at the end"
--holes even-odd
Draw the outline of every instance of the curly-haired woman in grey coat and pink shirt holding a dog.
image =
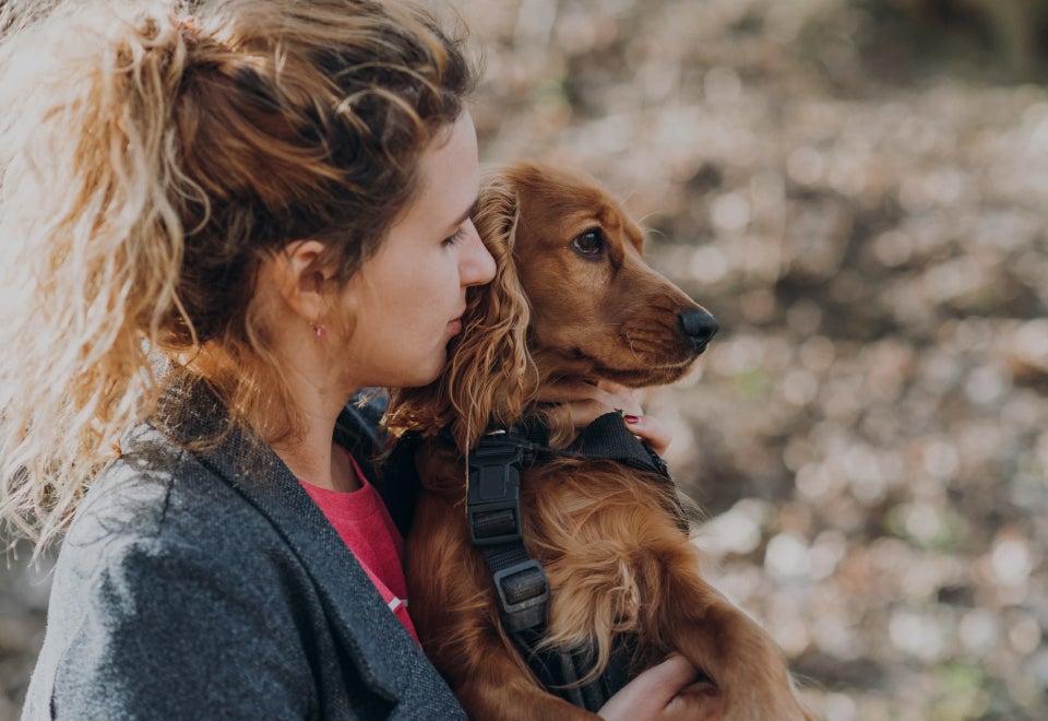
MULTIPOLYGON (((24 717, 457 718, 346 403, 432 380, 492 276, 461 42, 406 2, 111 4, 0 50, 0 510, 69 527, 24 717)), ((605 714, 714 712, 693 676, 605 714)))

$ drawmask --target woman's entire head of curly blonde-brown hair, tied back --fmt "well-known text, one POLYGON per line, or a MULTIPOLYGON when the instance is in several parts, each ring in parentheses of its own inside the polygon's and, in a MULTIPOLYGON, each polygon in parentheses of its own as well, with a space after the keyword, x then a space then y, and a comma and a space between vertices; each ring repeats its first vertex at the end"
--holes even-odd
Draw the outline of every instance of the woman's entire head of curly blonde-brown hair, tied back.
MULTIPOLYGON (((347 282, 474 73, 409 2, 33 14, 0 16, 0 530, 40 551, 156 410, 158 358, 190 358, 231 422, 293 407, 252 306, 259 262, 321 239, 347 282)), ((296 428, 288 412, 258 430, 296 428)))

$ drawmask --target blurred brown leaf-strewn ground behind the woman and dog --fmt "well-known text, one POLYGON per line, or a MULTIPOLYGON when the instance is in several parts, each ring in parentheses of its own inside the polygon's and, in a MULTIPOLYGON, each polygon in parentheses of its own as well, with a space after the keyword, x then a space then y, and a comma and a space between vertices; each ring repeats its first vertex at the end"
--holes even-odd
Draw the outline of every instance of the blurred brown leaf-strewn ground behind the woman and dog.
MULTIPOLYGON (((600 178, 719 319, 647 410, 811 705, 1048 718, 1048 1, 453 4, 483 159, 600 178)), ((25 558, 0 719, 43 634, 25 558)))

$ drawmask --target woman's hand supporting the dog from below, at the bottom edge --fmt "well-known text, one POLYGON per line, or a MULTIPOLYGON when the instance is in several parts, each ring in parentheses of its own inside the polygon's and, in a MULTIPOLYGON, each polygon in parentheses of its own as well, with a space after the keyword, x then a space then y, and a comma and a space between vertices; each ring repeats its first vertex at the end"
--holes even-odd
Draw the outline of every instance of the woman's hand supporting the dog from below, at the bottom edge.
POLYGON ((623 719, 719 721, 724 698, 679 653, 670 655, 623 686, 597 712, 607 721, 623 719))

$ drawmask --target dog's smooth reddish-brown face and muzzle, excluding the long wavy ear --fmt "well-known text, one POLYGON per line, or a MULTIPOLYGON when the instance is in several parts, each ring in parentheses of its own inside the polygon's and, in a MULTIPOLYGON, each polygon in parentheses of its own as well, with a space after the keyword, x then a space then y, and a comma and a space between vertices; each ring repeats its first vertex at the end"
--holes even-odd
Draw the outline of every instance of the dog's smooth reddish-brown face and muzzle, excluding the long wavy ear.
POLYGON ((691 367, 716 321, 644 262, 643 232, 606 190, 535 164, 488 178, 489 192, 500 187, 515 206, 479 215, 477 229, 489 248, 512 248, 531 306, 528 345, 543 376, 639 388, 691 367))

